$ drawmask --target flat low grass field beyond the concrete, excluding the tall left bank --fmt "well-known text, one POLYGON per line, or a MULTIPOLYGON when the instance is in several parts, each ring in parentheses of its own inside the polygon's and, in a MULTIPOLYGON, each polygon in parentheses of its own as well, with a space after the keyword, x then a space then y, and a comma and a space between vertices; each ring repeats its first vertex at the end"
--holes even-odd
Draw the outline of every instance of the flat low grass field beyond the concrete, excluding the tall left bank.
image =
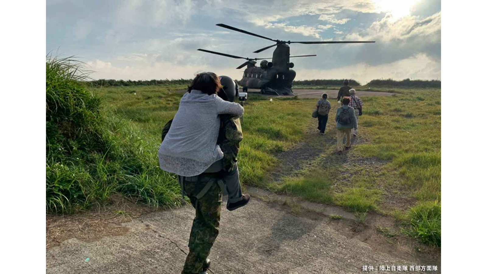
MULTIPOLYGON (((106 108, 112 113, 146 132, 152 147, 157 147, 160 130, 177 111, 183 95, 175 91, 182 89, 184 86, 137 86, 92 88, 91 91, 104 98, 106 108)), ((378 88, 381 90, 390 89, 378 88)), ((336 204, 353 212, 375 210, 395 215, 415 223, 416 230, 436 226, 441 215, 428 219, 430 223, 420 221, 419 216, 429 215, 441 204, 441 91, 413 88, 393 91, 396 93, 393 97, 362 98, 365 106, 364 115, 359 118, 359 131, 365 141, 348 153, 353 159, 375 159, 379 165, 351 166, 340 161, 320 165, 323 159, 336 157, 335 145, 327 145, 308 169, 279 183, 267 177, 268 171, 278 168, 276 153, 293 149, 310 138, 319 138, 305 133, 310 122, 316 123, 310 117, 316 100, 274 98, 271 103, 268 98, 251 94, 242 123, 244 141, 239 157, 242 182, 336 204), (346 185, 333 187, 344 180, 348 181, 346 185), (407 202, 394 208, 387 203, 391 198, 406 198, 407 202), (416 219, 410 209, 414 206, 424 213, 416 214, 416 219)), ((333 106, 328 138, 336 134, 337 105, 333 106)), ((313 142, 316 145, 316 140, 313 142)), ((156 153, 154 150, 154 157, 156 153)), ((438 238, 438 233, 433 238, 438 238)))

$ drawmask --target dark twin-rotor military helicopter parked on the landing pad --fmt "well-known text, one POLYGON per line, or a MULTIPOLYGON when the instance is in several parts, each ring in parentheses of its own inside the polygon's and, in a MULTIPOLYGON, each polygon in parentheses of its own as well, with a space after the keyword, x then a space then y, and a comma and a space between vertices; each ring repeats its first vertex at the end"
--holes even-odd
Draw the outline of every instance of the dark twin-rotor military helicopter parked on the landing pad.
POLYGON ((338 43, 374 43, 375 41, 283 41, 277 39, 270 39, 255 33, 251 33, 242 29, 238 29, 225 24, 217 24, 217 26, 231 29, 234 31, 242 32, 248 35, 256 36, 259 38, 267 39, 276 42, 273 45, 264 47, 254 51, 254 53, 262 52, 271 47, 277 46, 272 55, 272 61, 269 62, 265 59, 270 58, 245 58, 236 55, 230 55, 205 49, 198 49, 212 54, 226 56, 235 59, 246 59, 247 61, 237 67, 237 69, 243 68, 245 65, 247 68, 244 70, 244 77, 239 81, 239 84, 243 86, 244 92, 247 89, 260 89, 261 94, 273 94, 273 95, 294 95, 291 89, 296 72, 291 68, 294 67, 294 63, 289 62, 289 58, 295 57, 308 57, 316 55, 299 55, 289 56, 290 43, 299 44, 338 44, 338 43), (260 67, 256 67, 256 60, 262 60, 260 67))

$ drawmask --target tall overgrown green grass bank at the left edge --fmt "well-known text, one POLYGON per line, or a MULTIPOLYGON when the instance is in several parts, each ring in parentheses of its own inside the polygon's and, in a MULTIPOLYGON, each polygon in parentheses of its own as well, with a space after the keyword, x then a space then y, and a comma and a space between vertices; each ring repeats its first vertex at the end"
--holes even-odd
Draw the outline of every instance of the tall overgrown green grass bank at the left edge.
POLYGON ((46 59, 46 213, 73 213, 120 192, 147 204, 180 202, 176 179, 158 167, 135 125, 105 115, 70 58, 46 59))

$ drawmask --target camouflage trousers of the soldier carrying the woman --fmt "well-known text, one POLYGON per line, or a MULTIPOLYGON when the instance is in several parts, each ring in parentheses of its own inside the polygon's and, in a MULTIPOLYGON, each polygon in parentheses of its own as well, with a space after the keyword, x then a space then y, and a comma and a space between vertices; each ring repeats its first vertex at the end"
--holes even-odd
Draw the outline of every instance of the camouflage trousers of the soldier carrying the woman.
POLYGON ((222 191, 217 179, 202 174, 200 176, 184 177, 184 192, 191 200, 196 214, 189 235, 189 253, 186 257, 181 274, 197 274, 210 254, 220 227, 220 212, 222 208, 222 191), (198 181, 199 178, 199 181, 198 181), (197 199, 196 196, 209 180, 214 180, 206 194, 197 199))

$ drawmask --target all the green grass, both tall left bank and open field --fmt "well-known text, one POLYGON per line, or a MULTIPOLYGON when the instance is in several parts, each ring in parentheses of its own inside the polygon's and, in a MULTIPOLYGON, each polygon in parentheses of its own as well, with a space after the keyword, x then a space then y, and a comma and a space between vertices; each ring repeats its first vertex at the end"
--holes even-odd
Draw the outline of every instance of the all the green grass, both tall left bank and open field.
MULTIPOLYGON (((46 212, 82 211, 114 192, 151 206, 180 205, 176 178, 159 169, 157 150, 184 80, 96 87, 80 84, 78 72, 75 60, 46 60, 46 212)), ((242 121, 241 181, 357 215, 394 215, 408 223, 410 235, 440 246, 441 91, 375 91, 395 94, 362 98, 359 138, 343 156, 334 154, 336 102, 323 137, 310 116, 316 99, 270 102, 250 94, 242 121), (276 156, 303 146, 319 155, 274 180, 271 172, 281 168, 276 156)))

